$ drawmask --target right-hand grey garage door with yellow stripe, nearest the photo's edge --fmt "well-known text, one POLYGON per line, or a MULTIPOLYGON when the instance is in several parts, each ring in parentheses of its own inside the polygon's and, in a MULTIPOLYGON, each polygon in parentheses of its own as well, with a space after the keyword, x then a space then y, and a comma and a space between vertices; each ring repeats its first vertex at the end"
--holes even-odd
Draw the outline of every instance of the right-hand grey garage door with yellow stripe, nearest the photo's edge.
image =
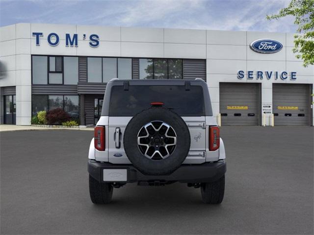
POLYGON ((275 125, 311 125, 309 84, 273 84, 275 125))

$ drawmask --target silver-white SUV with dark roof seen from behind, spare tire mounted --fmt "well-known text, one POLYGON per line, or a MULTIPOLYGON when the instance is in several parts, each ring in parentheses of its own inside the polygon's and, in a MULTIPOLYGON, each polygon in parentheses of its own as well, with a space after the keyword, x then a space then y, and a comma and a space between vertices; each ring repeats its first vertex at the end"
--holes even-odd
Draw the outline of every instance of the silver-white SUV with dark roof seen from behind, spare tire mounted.
POLYGON ((90 197, 104 204, 127 183, 181 182, 201 188, 205 203, 221 203, 225 158, 202 79, 112 79, 89 147, 90 197))

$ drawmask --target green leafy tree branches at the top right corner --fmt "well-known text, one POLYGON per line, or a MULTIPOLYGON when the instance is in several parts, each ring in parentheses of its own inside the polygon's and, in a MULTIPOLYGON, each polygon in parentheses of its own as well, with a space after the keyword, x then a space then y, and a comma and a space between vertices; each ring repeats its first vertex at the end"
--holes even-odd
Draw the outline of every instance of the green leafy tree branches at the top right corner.
POLYGON ((266 16, 267 20, 293 16, 298 25, 294 35, 293 53, 303 60, 304 67, 314 64, 314 0, 291 0, 278 14, 266 16))

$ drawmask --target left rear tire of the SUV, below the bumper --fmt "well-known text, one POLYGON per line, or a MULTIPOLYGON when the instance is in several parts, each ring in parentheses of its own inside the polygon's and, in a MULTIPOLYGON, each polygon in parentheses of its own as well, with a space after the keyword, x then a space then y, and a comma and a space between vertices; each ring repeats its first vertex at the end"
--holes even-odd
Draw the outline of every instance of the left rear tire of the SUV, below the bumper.
POLYGON ((113 187, 110 183, 99 183, 89 175, 89 195, 94 204, 107 204, 111 202, 113 187))

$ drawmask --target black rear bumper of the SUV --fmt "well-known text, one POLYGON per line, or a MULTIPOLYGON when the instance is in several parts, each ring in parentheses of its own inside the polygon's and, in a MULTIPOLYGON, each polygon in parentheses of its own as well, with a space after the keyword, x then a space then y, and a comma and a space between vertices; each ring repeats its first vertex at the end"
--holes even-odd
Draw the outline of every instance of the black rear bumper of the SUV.
MULTIPOLYGON (((105 169, 126 169, 127 180, 119 183, 133 182, 181 182, 203 183, 213 182, 221 178, 226 172, 226 161, 220 160, 214 163, 183 164, 169 175, 144 175, 131 164, 110 164, 88 161, 88 173, 98 182, 104 182, 103 172, 105 169)), ((115 182, 115 181, 110 181, 115 182)))

